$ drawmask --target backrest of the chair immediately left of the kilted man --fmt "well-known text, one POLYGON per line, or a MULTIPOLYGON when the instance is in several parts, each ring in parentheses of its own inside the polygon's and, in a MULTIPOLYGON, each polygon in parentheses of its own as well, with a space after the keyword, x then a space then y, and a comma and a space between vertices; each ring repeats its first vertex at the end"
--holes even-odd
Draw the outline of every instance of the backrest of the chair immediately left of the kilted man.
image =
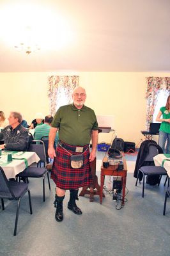
POLYGON ((45 146, 42 140, 33 140, 27 151, 35 152, 40 157, 40 162, 46 163, 45 146))

